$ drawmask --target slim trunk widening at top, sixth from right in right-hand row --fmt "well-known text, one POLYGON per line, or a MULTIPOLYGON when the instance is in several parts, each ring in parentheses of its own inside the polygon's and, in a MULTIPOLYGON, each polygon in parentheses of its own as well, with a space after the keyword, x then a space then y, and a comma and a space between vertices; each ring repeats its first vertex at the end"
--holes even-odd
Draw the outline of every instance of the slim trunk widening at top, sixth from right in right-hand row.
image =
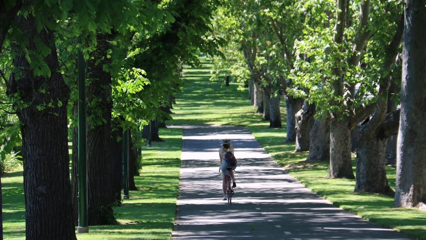
POLYGON ((296 113, 302 108, 304 100, 304 98, 286 96, 287 143, 296 141, 296 113))

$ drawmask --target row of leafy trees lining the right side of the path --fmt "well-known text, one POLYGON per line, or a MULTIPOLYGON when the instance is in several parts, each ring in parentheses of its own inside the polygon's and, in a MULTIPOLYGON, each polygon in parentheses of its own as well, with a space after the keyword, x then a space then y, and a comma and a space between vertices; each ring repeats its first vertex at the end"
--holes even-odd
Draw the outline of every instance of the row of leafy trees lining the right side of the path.
POLYGON ((271 128, 281 127, 284 98, 286 141, 296 142, 295 151, 309 151, 306 161, 330 161, 329 178, 356 175, 354 192, 422 206, 425 18, 417 0, 228 0, 213 21, 215 35, 227 41, 226 59, 217 58, 216 67, 249 85, 254 107, 271 128), (396 192, 385 170, 394 135, 396 192))

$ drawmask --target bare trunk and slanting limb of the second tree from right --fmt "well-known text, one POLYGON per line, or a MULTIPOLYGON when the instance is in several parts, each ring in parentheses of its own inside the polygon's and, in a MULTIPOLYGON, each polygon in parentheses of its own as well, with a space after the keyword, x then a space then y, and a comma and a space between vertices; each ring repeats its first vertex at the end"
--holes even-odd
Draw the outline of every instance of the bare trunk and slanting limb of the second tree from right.
MULTIPOLYGON (((395 62, 402 40, 403 20, 404 15, 401 15, 393 39, 386 48, 384 69, 391 69, 395 62)), ((393 103, 388 101, 391 79, 390 74, 380 79, 376 110, 359 131, 355 192, 394 195, 387 183, 385 168, 386 145, 389 138, 397 133, 399 125, 399 110, 386 114, 388 109, 393 109, 393 103)))

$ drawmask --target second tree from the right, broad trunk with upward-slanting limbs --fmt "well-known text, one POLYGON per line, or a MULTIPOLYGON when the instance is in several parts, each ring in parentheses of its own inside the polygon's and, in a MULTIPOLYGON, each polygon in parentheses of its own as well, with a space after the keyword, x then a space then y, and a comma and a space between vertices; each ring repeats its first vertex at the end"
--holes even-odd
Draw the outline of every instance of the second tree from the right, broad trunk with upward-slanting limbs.
MULTIPOLYGON (((386 178, 385 168, 385 150, 388 139, 397 133, 399 123, 399 110, 395 110, 396 106, 388 104, 389 88, 391 82, 397 82, 400 79, 400 66, 395 65, 395 59, 399 54, 400 43, 402 40, 402 33, 404 28, 404 15, 401 14, 399 19, 396 19, 393 10, 398 9, 393 4, 383 5, 381 12, 387 12, 389 20, 377 21, 386 23, 388 29, 392 26, 395 29, 393 36, 386 36, 381 34, 376 39, 376 46, 378 53, 375 55, 383 56, 383 67, 377 72, 385 71, 381 73, 379 77, 379 92, 377 97, 376 109, 369 121, 362 124, 359 131, 359 140, 356 154, 356 182, 355 192, 375 192, 383 193, 393 196, 393 190, 389 187, 386 178), (392 39, 389 41, 390 37, 392 39), (389 42, 386 48, 385 42, 389 42), (382 52, 382 54, 380 54, 382 52), (383 69, 383 70, 382 70, 383 69), (387 113, 387 114, 386 114, 387 113)), ((376 18, 377 19, 377 18, 376 18)), ((387 31, 391 32, 391 31, 387 31)), ((369 65, 368 61, 364 64, 369 65)), ((374 66, 371 67, 371 70, 374 66)), ((392 93, 392 95, 398 95, 398 93, 392 93)))

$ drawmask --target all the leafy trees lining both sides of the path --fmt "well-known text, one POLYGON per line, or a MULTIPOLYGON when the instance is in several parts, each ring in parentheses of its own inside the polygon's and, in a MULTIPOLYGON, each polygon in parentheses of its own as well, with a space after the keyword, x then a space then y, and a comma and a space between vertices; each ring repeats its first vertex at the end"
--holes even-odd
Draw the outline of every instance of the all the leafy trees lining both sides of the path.
POLYGON ((307 161, 330 161, 328 177, 356 175, 355 192, 394 195, 395 206, 426 201, 426 6, 420 0, 0 4, 0 144, 9 152, 20 146, 28 240, 76 239, 78 51, 86 63, 89 225, 116 223, 123 132, 131 132, 135 169, 141 130, 149 123, 155 130, 170 117, 184 84, 182 64, 199 64, 199 52, 221 56, 217 65, 248 84, 271 128, 282 127, 284 98, 286 141, 309 151, 307 161), (394 192, 384 160, 395 134, 394 192))

